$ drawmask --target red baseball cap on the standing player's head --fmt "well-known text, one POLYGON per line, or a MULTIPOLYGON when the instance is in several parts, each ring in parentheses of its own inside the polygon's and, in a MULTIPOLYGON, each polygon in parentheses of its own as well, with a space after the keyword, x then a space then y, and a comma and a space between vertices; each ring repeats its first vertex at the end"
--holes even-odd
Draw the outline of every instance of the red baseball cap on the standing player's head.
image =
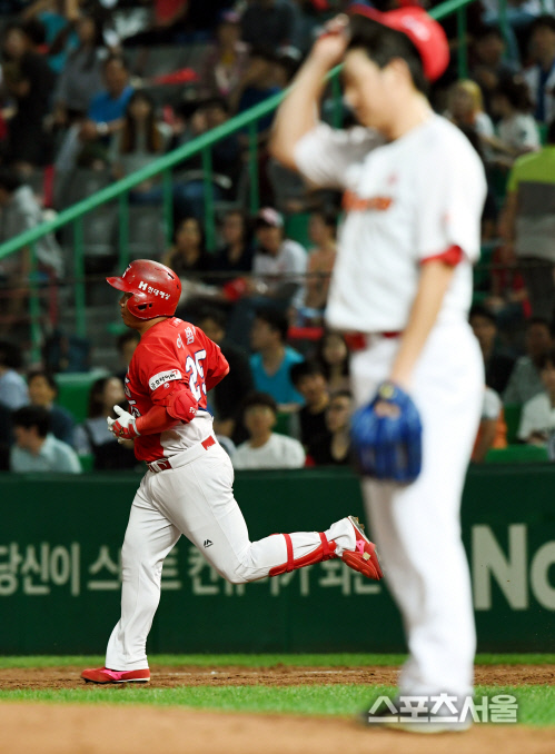
POLYGON ((349 8, 349 14, 366 16, 376 23, 395 29, 406 34, 418 50, 424 69, 424 76, 429 81, 435 81, 445 71, 449 63, 449 43, 445 31, 428 16, 425 10, 417 6, 396 8, 385 13, 355 4, 349 8))

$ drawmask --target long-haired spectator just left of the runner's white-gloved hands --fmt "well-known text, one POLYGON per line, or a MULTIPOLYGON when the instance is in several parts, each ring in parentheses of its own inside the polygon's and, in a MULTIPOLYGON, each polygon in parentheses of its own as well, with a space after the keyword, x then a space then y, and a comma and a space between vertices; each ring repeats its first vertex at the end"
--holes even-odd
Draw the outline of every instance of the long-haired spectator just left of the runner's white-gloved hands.
POLYGON ((116 404, 128 407, 123 384, 118 377, 100 377, 90 390, 88 417, 76 427, 76 450, 80 456, 92 455, 96 470, 129 469, 137 465, 131 447, 119 444, 108 429, 106 419, 118 418, 113 413, 116 404))

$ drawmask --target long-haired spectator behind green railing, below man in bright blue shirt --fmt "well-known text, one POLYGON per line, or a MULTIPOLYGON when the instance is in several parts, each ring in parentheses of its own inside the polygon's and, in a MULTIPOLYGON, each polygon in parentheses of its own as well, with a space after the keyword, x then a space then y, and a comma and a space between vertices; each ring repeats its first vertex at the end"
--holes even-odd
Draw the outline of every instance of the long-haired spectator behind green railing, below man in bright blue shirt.
MULTIPOLYGON (((150 165, 163 155, 169 143, 171 129, 157 120, 155 102, 146 91, 135 91, 129 98, 121 130, 113 135, 110 145, 110 162, 116 178, 150 165)), ((133 205, 158 205, 162 190, 157 186, 159 178, 150 178, 129 192, 133 205)))

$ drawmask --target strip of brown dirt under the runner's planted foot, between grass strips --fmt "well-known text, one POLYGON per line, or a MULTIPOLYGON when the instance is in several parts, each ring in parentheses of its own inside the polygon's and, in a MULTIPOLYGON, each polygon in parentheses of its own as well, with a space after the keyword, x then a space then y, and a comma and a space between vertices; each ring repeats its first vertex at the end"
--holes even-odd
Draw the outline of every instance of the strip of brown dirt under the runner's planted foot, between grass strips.
MULTIPOLYGON (((82 667, 42 667, 0 669, 0 689, 73 688, 81 685, 82 667)), ((396 667, 272 667, 198 665, 152 665, 150 686, 313 686, 318 684, 357 683, 395 686, 396 667)), ((518 686, 522 684, 555 685, 553 665, 478 665, 476 683, 483 685, 518 686)), ((92 684, 88 686, 95 689, 92 684)))

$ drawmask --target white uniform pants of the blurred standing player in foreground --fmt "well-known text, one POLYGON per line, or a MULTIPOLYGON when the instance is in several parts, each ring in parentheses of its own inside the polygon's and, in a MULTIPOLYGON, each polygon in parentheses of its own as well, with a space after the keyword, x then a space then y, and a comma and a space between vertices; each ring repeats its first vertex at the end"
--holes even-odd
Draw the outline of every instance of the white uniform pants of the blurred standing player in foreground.
MULTIPOLYGON (((388 377, 397 348, 397 339, 376 337, 355 354, 358 406, 388 377)), ((482 410, 482 365, 466 323, 436 326, 410 389, 423 423, 422 473, 407 486, 363 482, 373 540, 407 635, 403 694, 466 695, 473 685, 476 638, 459 507, 482 410)))

